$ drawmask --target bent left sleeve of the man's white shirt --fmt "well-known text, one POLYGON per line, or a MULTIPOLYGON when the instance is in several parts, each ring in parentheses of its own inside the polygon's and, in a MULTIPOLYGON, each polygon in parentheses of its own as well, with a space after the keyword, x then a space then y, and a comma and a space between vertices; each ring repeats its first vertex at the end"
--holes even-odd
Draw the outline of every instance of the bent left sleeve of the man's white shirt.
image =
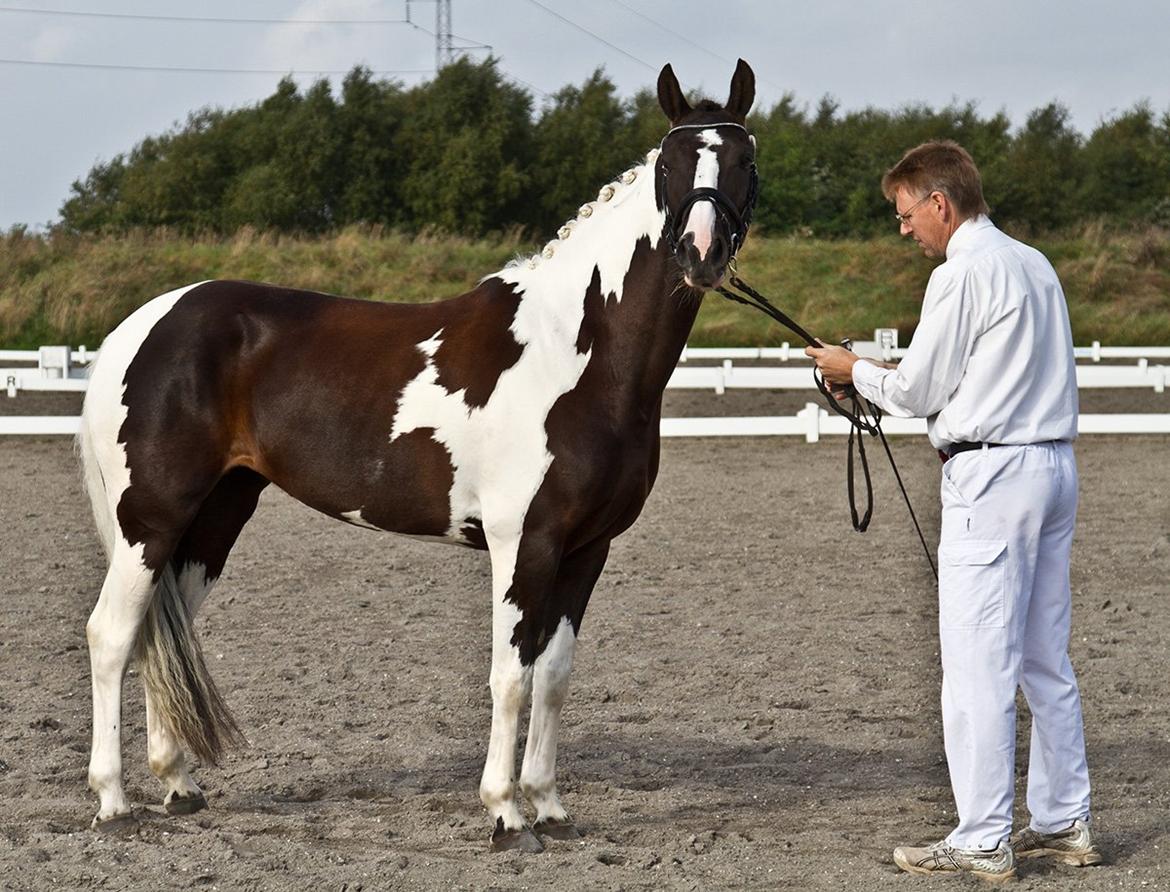
POLYGON ((863 359, 854 363, 858 392, 892 416, 929 418, 942 410, 958 387, 975 344, 970 289, 969 276, 936 269, 902 362, 896 369, 863 359))

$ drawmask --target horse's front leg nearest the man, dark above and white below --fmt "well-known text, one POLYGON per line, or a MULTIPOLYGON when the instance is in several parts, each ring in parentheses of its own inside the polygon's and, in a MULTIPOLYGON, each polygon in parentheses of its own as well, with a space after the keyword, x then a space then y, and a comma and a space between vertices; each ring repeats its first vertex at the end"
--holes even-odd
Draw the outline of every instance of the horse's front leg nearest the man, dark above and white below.
POLYGON ((546 603, 546 617, 556 626, 536 659, 532 718, 519 785, 536 809, 532 829, 553 839, 580 837, 557 796, 557 729, 569 693, 581 617, 608 554, 610 541, 603 540, 564 557, 546 603))

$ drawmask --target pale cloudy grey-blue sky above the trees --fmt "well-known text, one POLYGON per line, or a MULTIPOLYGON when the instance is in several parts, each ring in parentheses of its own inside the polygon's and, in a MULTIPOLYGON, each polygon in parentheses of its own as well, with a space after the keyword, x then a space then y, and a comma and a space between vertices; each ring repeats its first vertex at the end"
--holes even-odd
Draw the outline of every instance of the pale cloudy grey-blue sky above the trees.
MULTIPOLYGON (((653 88, 666 62, 684 90, 723 100, 742 56, 765 109, 786 92, 810 108, 828 95, 842 111, 975 102, 1019 126, 1059 101, 1086 135, 1140 101, 1170 111, 1170 0, 452 0, 450 8, 456 47, 473 59, 494 54, 537 108, 599 67, 622 95, 653 88)), ((57 219, 70 184, 96 163, 197 109, 254 104, 283 75, 339 84, 365 64, 405 84, 429 78, 436 9, 434 0, 0 0, 0 231, 57 219), (241 19, 257 21, 223 21, 241 19), (338 74, 318 74, 328 71, 338 74)))

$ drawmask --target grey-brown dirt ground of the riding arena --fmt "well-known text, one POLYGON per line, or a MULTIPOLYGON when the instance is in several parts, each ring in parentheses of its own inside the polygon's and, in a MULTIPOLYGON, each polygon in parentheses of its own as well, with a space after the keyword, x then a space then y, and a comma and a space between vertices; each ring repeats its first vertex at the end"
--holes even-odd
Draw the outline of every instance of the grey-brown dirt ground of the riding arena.
MULTIPOLYGON (((670 392, 667 414, 806 399, 670 392)), ((1090 393, 1082 410, 1130 399, 1170 411, 1147 392, 1090 393)), ((32 394, 0 411, 53 406, 76 411, 32 394)), ((936 537, 937 458, 923 438, 893 448, 936 537)), ((1170 441, 1092 435, 1076 452, 1072 657, 1110 864, 1027 864, 1017 887, 1166 890, 1170 441)), ((524 856, 487 851, 476 795, 486 556, 335 523, 274 489, 198 620, 250 746, 197 771, 209 810, 166 816, 131 675, 140 828, 90 832, 84 624, 104 565, 71 442, 0 438, 0 888, 935 887, 890 859, 954 819, 934 579, 883 464, 873 528, 849 529, 844 453, 840 438, 665 441, 658 487, 593 595, 565 707, 560 789, 585 837, 524 856)))

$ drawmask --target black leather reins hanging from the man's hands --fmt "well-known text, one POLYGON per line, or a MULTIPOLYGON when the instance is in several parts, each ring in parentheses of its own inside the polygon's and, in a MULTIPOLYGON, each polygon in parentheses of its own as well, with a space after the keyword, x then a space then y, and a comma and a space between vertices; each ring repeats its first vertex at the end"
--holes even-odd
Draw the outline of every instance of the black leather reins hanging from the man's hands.
MULTIPOLYGON (((745 307, 752 307, 760 313, 770 316, 775 321, 779 322, 786 329, 796 334, 801 341, 804 341, 808 346, 824 346, 825 344, 819 339, 810 335, 804 328, 801 328, 794 320, 783 313, 780 309, 775 307, 764 295, 755 290, 744 282, 738 276, 731 276, 729 284, 736 290, 729 290, 725 287, 717 288, 716 290, 723 295, 729 301, 735 301, 736 303, 742 303, 745 307)), ((852 345, 848 341, 842 342, 842 346, 851 349, 852 345)), ((858 394, 856 390, 851 385, 847 387, 846 393, 851 402, 851 409, 845 409, 840 405, 835 397, 830 392, 828 385, 825 384, 825 379, 818 373, 817 369, 812 372, 813 380, 817 383, 817 390, 821 392, 828 403, 828 407, 837 412, 842 418, 847 419, 849 423, 849 451, 846 461, 846 480, 848 485, 849 494, 849 514, 853 520, 853 529, 858 533, 865 533, 869 527, 869 520, 873 517, 874 510, 874 490, 873 482, 869 476, 869 461, 866 458, 866 446, 865 438, 862 434, 868 433, 870 437, 878 437, 881 440, 881 445, 886 450, 886 457, 889 459, 889 466, 894 471, 894 478, 897 480, 897 487, 902 490, 902 499, 906 501, 906 508, 910 513, 910 520, 914 522, 914 529, 918 534, 918 541, 922 543, 922 551, 927 556, 927 563, 930 564, 930 570, 934 572, 935 578, 938 578, 938 570, 935 568, 934 558, 930 557, 930 548, 927 546, 925 536, 922 535, 922 527, 918 526, 918 519, 914 514, 914 506, 910 505, 910 496, 906 492, 906 486, 902 483, 902 475, 897 473, 897 464, 894 461, 894 453, 890 452, 889 442, 886 440, 886 434, 881 430, 881 410, 870 403, 868 399, 863 399, 858 394), (856 494, 854 490, 854 460, 853 460, 853 442, 856 439, 858 445, 858 457, 861 459, 861 472, 866 481, 866 509, 865 513, 858 515, 856 506, 856 494)))

